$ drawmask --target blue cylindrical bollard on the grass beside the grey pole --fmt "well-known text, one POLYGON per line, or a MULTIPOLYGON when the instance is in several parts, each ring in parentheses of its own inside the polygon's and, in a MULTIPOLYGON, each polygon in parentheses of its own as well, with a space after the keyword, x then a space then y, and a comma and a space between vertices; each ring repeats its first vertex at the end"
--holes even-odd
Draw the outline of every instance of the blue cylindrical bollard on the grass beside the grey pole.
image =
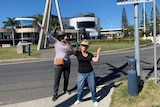
POLYGON ((138 94, 136 60, 134 58, 129 59, 128 66, 128 93, 132 96, 135 96, 138 94))

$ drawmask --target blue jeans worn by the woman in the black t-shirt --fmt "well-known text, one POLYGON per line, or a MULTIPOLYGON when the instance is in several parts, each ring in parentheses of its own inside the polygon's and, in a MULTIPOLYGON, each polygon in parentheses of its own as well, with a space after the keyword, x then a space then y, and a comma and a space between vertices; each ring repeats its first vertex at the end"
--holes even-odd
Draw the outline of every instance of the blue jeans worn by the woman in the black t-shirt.
POLYGON ((94 71, 90 73, 79 73, 77 77, 77 100, 82 100, 82 91, 85 84, 85 80, 87 80, 89 89, 92 94, 92 101, 95 102, 96 100, 96 85, 95 85, 95 73, 94 71))

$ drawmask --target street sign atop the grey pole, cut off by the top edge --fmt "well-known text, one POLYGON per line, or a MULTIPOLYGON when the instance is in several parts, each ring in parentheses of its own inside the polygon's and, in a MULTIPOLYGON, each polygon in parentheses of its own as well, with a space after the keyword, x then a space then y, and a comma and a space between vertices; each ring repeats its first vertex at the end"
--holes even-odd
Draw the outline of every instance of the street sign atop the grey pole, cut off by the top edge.
POLYGON ((117 0, 117 5, 153 2, 153 0, 117 0))

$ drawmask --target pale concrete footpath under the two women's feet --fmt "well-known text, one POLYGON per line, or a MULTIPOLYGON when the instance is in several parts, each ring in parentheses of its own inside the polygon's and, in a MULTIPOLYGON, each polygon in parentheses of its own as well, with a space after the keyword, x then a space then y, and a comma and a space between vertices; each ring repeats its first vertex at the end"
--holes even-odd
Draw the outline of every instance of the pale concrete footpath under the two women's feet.
MULTIPOLYGON (((107 87, 101 85, 97 87, 97 93, 99 96, 97 99, 99 100, 98 107, 109 107, 111 102, 111 95, 113 93, 114 88, 108 89, 107 87)), ((76 93, 72 92, 71 94, 64 94, 61 95, 56 101, 52 101, 52 97, 26 101, 21 103, 3 105, 0 107, 94 107, 93 102, 91 101, 91 94, 89 89, 86 89, 84 93, 85 96, 83 97, 83 102, 74 105, 76 100, 76 93)))

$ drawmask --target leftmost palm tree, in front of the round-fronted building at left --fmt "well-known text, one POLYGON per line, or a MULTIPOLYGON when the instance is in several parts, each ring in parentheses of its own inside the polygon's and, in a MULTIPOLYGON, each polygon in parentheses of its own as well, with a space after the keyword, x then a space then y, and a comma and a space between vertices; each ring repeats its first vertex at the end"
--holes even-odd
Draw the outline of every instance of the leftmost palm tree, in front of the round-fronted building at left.
POLYGON ((12 41, 13 41, 13 46, 15 46, 15 39, 14 39, 14 33, 15 33, 15 26, 18 26, 18 22, 15 21, 15 18, 9 18, 7 17, 7 21, 3 22, 4 24, 4 28, 9 27, 11 28, 11 32, 12 32, 12 41))

